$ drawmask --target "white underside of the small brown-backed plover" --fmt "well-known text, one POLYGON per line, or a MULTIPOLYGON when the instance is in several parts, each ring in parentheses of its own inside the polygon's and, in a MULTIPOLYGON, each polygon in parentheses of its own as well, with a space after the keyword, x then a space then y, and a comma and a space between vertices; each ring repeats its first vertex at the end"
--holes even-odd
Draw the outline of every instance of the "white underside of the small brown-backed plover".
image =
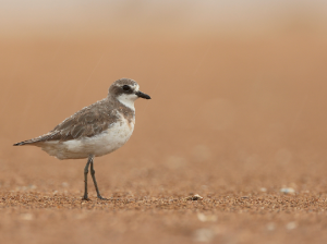
POLYGON ((99 157, 123 146, 134 131, 134 123, 135 121, 129 123, 128 120, 121 118, 119 122, 99 135, 66 142, 45 142, 37 146, 58 159, 87 158, 89 155, 99 157))

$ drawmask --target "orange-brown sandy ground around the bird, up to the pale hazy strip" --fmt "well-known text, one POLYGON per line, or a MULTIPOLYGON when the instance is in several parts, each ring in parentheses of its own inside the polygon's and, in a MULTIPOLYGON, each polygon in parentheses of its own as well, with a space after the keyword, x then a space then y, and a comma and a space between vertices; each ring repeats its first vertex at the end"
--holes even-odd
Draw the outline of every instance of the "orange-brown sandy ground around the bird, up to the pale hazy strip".
POLYGON ((326 38, 0 42, 0 243, 326 243, 326 38), (121 77, 136 126, 95 159, 13 143, 121 77), (203 199, 192 200, 198 194, 203 199))

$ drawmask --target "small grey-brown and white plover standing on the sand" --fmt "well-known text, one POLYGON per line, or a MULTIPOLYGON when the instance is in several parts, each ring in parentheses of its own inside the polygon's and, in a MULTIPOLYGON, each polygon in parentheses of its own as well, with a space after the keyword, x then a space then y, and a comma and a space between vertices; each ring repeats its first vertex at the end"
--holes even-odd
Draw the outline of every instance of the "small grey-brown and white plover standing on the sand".
POLYGON ((150 99, 140 90, 138 84, 130 78, 116 81, 108 96, 69 117, 49 133, 14 144, 14 146, 38 146, 58 159, 87 158, 84 168, 84 196, 87 195, 88 168, 97 192, 100 195, 94 170, 94 158, 110 154, 123 146, 131 137, 135 124, 134 101, 150 99))

